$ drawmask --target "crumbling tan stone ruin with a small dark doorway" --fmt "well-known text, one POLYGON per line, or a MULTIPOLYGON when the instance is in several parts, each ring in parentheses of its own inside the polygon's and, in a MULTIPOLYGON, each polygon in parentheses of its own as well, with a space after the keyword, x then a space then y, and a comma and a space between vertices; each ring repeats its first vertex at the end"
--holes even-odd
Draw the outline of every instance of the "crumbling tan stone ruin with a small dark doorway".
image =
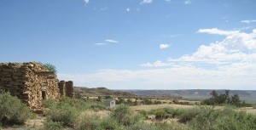
POLYGON ((44 99, 74 97, 73 82, 64 82, 55 72, 37 62, 0 63, 0 92, 9 92, 25 102, 31 110, 41 110, 44 99))

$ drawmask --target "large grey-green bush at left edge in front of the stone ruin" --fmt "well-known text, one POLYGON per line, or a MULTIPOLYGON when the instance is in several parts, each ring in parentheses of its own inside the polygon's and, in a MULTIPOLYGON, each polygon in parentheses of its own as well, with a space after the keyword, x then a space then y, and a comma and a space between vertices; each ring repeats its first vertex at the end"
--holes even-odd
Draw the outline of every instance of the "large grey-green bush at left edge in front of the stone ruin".
POLYGON ((28 107, 10 93, 0 94, 0 122, 2 126, 21 125, 31 116, 28 107))

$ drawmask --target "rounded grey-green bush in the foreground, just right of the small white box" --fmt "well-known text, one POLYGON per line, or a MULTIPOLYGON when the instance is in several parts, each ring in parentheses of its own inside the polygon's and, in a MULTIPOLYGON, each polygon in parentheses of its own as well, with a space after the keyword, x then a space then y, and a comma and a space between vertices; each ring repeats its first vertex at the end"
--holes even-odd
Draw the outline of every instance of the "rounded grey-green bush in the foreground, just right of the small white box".
POLYGON ((119 105, 116 107, 116 109, 113 110, 111 117, 113 117, 116 122, 125 126, 130 126, 141 119, 141 117, 131 110, 128 105, 119 105))

